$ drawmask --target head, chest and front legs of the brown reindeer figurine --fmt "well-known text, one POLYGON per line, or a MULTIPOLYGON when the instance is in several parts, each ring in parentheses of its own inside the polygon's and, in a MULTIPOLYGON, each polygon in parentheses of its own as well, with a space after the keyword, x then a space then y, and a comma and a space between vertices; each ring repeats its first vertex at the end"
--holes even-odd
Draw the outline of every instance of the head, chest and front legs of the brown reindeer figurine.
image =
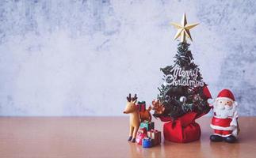
POLYGON ((139 130, 139 111, 137 110, 136 101, 137 96, 135 94, 134 97, 129 94, 127 97, 126 107, 124 109, 124 114, 130 114, 130 132, 128 141, 132 141, 133 143, 136 141, 136 134, 139 130))

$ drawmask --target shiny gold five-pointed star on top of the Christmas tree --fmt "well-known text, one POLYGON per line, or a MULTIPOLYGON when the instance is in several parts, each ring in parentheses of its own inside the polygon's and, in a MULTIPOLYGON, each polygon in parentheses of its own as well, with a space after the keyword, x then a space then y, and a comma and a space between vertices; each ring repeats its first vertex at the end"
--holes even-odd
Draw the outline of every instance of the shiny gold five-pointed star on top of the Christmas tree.
POLYGON ((181 43, 185 43, 186 42, 186 37, 188 37, 191 41, 192 37, 190 35, 189 29, 197 26, 198 23, 196 24, 187 24, 187 19, 185 17, 185 13, 183 14, 183 18, 181 21, 181 24, 177 24, 177 23, 170 23, 173 24, 175 28, 178 29, 178 32, 176 33, 174 40, 178 39, 179 36, 181 36, 181 43))

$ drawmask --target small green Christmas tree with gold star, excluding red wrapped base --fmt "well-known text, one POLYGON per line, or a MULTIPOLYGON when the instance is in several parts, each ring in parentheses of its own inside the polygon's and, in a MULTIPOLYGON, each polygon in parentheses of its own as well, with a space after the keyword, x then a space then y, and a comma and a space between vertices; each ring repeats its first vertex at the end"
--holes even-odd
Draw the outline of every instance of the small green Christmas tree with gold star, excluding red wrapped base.
POLYGON ((159 87, 157 100, 153 103, 154 116, 177 119, 189 112, 205 114, 210 110, 208 96, 204 95, 204 87, 207 85, 202 80, 200 69, 193 62, 193 55, 189 51, 190 44, 185 39, 188 37, 192 41, 189 29, 197 24, 187 24, 185 14, 181 24, 172 24, 178 28, 174 39, 181 36, 181 42, 178 43, 174 64, 160 69, 164 73, 164 82, 159 87))

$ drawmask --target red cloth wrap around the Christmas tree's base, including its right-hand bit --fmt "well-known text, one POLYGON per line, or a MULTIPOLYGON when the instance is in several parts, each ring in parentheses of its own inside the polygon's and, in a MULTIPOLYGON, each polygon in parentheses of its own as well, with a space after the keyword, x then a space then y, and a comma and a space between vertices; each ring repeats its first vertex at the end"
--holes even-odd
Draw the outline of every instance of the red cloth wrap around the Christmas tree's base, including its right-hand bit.
MULTIPOLYGON (((204 87, 204 95, 212 98, 206 86, 204 87)), ((197 141, 201 137, 201 129, 195 120, 202 115, 205 115, 205 113, 189 112, 175 120, 171 120, 170 117, 160 117, 162 122, 166 122, 163 125, 164 138, 167 141, 179 143, 197 141)))

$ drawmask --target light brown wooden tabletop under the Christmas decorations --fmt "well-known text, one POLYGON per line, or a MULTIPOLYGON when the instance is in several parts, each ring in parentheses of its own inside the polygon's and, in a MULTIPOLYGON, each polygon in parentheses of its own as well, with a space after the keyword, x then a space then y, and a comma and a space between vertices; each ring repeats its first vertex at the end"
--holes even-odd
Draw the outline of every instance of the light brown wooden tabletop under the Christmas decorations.
POLYGON ((128 117, 0 117, 0 157, 256 157, 256 117, 239 119, 235 144, 210 142, 210 118, 197 122, 200 141, 143 149, 127 141, 128 117))

